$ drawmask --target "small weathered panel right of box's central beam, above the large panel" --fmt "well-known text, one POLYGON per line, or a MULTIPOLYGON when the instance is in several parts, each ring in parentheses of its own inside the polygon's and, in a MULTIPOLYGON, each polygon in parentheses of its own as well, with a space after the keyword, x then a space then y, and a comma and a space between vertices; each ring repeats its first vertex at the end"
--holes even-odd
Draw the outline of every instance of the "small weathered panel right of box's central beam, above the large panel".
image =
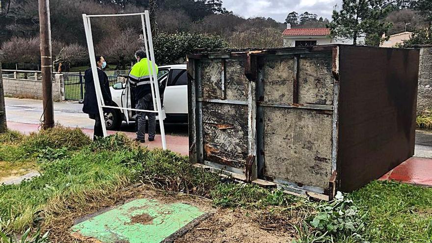
POLYGON ((293 103, 294 57, 264 60, 264 101, 293 103))

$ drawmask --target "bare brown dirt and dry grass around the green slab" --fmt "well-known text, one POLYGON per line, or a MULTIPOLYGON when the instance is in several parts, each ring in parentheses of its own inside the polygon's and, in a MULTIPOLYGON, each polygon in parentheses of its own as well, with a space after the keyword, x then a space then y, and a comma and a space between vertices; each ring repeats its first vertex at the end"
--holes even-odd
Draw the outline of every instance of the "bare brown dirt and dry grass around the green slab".
MULTIPOLYGON (((211 200, 207 198, 185 194, 168 194, 145 185, 131 189, 128 194, 130 198, 119 202, 117 205, 137 198, 149 198, 163 203, 189 204, 203 212, 210 213, 209 217, 190 228, 183 236, 174 240, 174 243, 288 243, 294 237, 292 230, 284 228, 265 229, 265 227, 261 226, 263 215, 259 211, 214 208, 211 200)), ((101 210, 106 212, 107 208, 101 210)), ((75 218, 74 223, 87 217, 75 218)), ((145 221, 147 218, 143 216, 137 218, 137 220, 145 221)), ((75 241, 80 243, 89 242, 82 241, 82 239, 75 239, 75 241)))

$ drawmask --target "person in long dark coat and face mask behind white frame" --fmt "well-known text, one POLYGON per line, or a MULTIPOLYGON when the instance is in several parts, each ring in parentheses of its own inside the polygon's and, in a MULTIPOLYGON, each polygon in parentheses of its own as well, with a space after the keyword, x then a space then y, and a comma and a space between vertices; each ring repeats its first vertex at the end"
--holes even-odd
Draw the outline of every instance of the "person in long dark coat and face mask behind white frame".
MULTIPOLYGON (((103 71, 103 69, 107 66, 107 62, 102 55, 96 55, 95 58, 102 97, 104 99, 105 105, 109 106, 112 103, 111 92, 109 91, 108 76, 103 71)), ((82 107, 82 112, 88 114, 88 117, 90 117, 90 119, 95 120, 93 140, 96 140, 99 137, 103 137, 104 134, 102 131, 102 121, 99 115, 99 107, 96 99, 96 91, 91 68, 85 70, 84 81, 85 92, 84 106, 82 107)))

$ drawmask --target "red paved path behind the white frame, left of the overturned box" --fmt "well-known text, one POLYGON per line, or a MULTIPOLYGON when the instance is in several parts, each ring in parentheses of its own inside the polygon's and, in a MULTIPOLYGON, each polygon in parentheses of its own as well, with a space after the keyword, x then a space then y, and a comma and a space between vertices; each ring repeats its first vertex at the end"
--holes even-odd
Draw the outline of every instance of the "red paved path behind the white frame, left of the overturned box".
MULTIPOLYGON (((36 132, 39 130, 39 125, 37 124, 27 124, 27 123, 17 123, 17 122, 7 122, 7 127, 11 130, 20 131, 24 134, 29 134, 31 132, 36 132)), ((93 129, 81 128, 82 132, 93 137, 93 129)), ((114 134, 113 131, 108 131, 108 134, 114 134)), ((129 136, 130 138, 135 138, 135 133, 122 132, 129 136)), ((169 150, 179 153, 181 155, 189 155, 189 137, 187 136, 173 136, 166 135, 166 146, 169 150)), ((147 146, 150 149, 162 148, 161 136, 156 135, 155 140, 152 142, 146 141, 143 146, 147 146)))

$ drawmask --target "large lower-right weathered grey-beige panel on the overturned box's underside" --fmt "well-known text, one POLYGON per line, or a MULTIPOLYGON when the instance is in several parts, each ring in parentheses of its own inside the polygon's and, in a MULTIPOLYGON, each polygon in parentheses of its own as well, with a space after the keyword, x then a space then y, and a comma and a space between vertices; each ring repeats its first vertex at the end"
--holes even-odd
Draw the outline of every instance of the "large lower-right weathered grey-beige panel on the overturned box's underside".
POLYGON ((328 187, 331 134, 331 113, 264 108, 265 178, 328 187))

